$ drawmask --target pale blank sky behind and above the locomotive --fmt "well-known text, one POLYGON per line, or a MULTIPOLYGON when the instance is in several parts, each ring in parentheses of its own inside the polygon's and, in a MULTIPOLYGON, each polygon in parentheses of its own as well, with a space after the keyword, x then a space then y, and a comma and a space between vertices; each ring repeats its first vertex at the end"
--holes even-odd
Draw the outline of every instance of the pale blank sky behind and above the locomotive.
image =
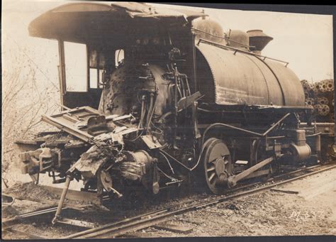
MULTIPOLYGON (((57 84, 58 50, 54 40, 32 38, 28 24, 41 13, 65 1, 2 1, 2 61, 9 69, 16 65, 13 51, 26 50, 39 67, 39 74, 47 72, 57 84)), ((162 4, 152 4, 164 6, 162 4)), ((169 8, 200 8, 169 6, 169 8)), ((240 11, 204 9, 211 19, 218 21, 225 31, 262 29, 274 38, 262 54, 289 62, 299 79, 315 82, 333 77, 332 16, 306 13, 279 13, 270 11, 240 11)), ((3 68, 4 70, 4 68, 3 68)))

